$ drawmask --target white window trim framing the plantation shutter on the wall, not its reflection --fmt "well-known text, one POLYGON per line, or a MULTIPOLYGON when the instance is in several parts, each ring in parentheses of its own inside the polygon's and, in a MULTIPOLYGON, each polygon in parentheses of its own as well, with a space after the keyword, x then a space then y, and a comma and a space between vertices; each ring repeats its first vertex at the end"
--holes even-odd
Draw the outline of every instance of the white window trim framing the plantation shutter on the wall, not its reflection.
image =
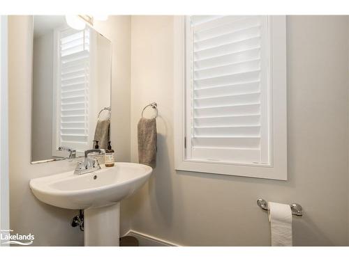
POLYGON ((185 17, 174 18, 174 164, 178 171, 287 180, 286 17, 270 16, 271 164, 226 164, 186 159, 185 17), (277 99, 273 99, 277 97, 277 99))

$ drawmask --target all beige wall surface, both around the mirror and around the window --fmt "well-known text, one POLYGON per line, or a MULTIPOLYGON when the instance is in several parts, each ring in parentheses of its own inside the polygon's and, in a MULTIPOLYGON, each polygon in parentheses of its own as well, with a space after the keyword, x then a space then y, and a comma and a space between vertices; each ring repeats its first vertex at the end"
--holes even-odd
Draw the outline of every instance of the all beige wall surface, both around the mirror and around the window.
MULTIPOLYGON (((294 219, 295 245, 348 244, 347 17, 288 17, 288 182, 174 171, 173 17, 110 16, 95 27, 113 44, 117 161, 130 153, 137 161, 142 107, 155 101, 159 108, 158 165, 121 203, 121 235, 131 228, 183 245, 267 246, 267 214, 255 204, 263 197, 304 207, 294 219)), ((30 164, 30 17, 11 16, 9 31, 10 226, 36 235, 37 246, 82 245, 82 232, 69 226, 76 212, 30 192, 31 178, 75 164, 30 164)))

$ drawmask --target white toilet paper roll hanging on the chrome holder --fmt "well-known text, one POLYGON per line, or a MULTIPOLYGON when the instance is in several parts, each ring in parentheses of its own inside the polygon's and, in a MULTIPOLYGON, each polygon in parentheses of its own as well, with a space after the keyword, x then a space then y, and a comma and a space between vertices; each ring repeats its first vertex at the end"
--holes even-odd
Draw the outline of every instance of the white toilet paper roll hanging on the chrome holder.
POLYGON ((272 246, 292 246, 292 212, 290 205, 268 203, 272 246))

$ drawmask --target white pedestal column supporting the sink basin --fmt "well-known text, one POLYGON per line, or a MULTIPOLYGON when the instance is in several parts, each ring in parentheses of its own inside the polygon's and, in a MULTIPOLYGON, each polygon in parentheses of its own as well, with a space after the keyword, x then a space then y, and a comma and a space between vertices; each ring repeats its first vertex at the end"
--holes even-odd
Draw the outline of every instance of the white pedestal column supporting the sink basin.
POLYGON ((120 203, 84 209, 84 245, 119 246, 120 203))

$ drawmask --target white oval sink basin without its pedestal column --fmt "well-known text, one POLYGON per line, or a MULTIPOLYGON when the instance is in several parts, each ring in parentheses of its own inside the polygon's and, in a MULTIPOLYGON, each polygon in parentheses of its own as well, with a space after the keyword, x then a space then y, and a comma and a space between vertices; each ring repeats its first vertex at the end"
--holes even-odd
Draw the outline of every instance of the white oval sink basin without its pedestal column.
POLYGON ((142 164, 117 162, 114 167, 76 175, 73 171, 38 177, 30 181, 31 191, 44 203, 67 209, 102 207, 131 196, 151 175, 142 164))

